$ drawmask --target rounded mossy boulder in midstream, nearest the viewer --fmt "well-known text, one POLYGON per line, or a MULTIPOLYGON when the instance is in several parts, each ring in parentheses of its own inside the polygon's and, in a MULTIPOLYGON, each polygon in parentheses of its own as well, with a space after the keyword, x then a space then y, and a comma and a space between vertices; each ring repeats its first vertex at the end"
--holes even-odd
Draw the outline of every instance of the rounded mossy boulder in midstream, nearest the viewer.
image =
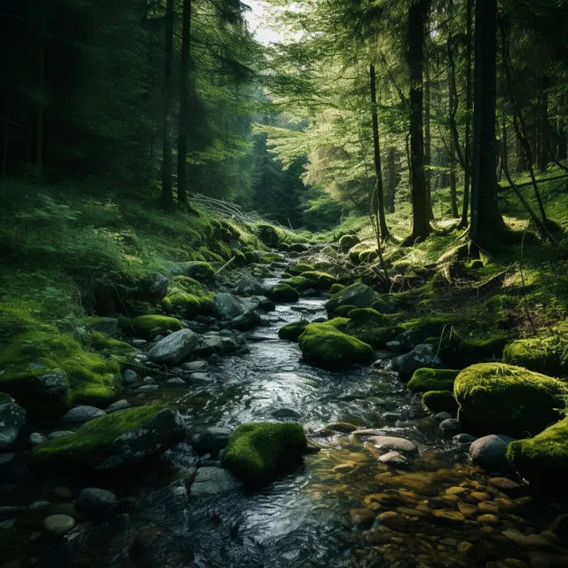
POLYGON ((306 448, 299 424, 244 424, 229 438, 223 462, 242 481, 262 485, 299 463, 306 448))

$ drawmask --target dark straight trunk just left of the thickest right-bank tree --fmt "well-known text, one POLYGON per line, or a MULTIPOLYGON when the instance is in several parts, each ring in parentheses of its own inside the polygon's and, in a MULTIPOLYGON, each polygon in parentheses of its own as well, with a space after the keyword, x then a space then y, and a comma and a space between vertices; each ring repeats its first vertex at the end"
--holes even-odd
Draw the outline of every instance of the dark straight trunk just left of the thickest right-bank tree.
POLYGON ((423 129, 424 32, 429 9, 430 0, 411 2, 408 9, 413 241, 426 239, 431 232, 426 174, 424 171, 423 129))

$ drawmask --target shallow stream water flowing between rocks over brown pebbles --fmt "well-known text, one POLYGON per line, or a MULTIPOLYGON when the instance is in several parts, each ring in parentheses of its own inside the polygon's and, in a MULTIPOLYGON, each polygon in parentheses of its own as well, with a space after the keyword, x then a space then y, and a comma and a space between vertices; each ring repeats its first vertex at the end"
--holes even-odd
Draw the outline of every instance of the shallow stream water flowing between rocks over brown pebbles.
POLYGON ((395 375, 316 369, 301 361, 296 343, 278 338, 287 322, 324 315, 319 298, 279 305, 268 316, 270 327, 249 332, 247 355, 210 367, 207 382, 164 389, 158 398, 175 400, 193 428, 293 420, 309 433, 331 422, 377 429, 419 446, 410 469, 389 469, 365 438, 336 434, 314 438, 323 449, 262 491, 198 498, 188 495, 180 472, 200 457, 181 444, 166 454, 163 471, 108 486, 130 499, 127 509, 102 523, 82 522, 56 543, 39 538, 30 519, 20 526, 25 544, 13 543, 19 560, 0 567, 568 565, 554 539, 540 535, 561 509, 488 484, 395 375), (393 422, 386 413, 399 418, 393 422), (473 508, 465 517, 458 512, 464 504, 473 508), (352 509, 362 508, 380 516, 370 530, 357 526, 352 509), (525 541, 512 538, 517 533, 525 541))

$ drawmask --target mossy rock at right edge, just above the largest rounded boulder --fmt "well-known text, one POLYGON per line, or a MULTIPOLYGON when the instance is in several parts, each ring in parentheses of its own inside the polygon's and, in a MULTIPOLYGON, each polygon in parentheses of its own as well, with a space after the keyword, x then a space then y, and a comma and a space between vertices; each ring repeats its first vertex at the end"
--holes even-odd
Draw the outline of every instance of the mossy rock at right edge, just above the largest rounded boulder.
POLYGON ((547 375, 568 376, 568 339, 560 335, 519 339, 503 350, 503 361, 547 375))

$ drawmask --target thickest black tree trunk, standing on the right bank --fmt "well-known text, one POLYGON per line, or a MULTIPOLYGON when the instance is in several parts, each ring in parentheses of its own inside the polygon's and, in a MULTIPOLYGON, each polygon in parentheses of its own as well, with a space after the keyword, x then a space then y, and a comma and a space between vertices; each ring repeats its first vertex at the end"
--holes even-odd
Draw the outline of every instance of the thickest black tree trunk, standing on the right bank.
POLYGON ((480 246, 504 226, 495 187, 496 61, 497 0, 477 0, 470 238, 480 246))

